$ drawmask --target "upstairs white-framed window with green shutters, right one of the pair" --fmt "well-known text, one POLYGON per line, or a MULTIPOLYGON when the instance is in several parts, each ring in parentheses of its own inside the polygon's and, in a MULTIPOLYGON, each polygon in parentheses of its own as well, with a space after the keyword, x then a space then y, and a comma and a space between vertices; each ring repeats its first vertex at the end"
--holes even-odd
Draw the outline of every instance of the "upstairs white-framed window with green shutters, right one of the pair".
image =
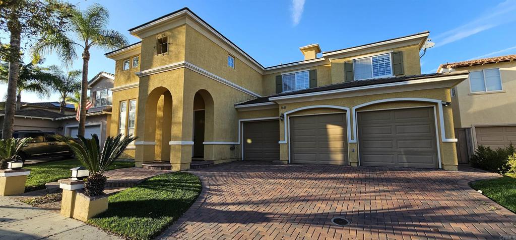
POLYGON ((354 80, 391 77, 391 54, 353 60, 354 80))

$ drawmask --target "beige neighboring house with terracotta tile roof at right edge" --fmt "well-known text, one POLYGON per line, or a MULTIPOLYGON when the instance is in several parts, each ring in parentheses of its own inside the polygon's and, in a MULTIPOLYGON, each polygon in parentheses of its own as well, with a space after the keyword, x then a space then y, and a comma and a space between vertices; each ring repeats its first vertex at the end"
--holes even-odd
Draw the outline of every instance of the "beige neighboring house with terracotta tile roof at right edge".
POLYGON ((516 54, 446 63, 438 72, 463 70, 469 78, 450 90, 459 162, 477 145, 516 143, 516 54))

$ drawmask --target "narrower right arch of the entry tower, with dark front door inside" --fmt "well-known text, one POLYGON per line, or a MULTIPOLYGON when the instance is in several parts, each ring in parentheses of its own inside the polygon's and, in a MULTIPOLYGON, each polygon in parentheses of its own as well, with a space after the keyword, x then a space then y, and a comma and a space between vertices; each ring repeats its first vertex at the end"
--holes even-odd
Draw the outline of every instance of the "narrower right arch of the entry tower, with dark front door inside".
POLYGON ((197 91, 193 97, 192 160, 209 160, 213 151, 204 142, 213 141, 214 103, 207 90, 197 91))

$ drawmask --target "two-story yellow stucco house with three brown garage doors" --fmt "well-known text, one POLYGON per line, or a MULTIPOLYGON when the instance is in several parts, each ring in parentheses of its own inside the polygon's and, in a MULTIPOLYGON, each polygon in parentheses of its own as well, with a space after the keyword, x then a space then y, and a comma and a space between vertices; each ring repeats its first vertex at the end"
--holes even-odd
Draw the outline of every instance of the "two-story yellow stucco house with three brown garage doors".
MULTIPOLYGON (((422 75, 429 32, 264 67, 188 8, 129 30, 116 61, 111 135, 136 134, 136 165, 281 160, 457 170, 449 89, 422 75)), ((278 60, 279 62, 280 60, 278 60)))

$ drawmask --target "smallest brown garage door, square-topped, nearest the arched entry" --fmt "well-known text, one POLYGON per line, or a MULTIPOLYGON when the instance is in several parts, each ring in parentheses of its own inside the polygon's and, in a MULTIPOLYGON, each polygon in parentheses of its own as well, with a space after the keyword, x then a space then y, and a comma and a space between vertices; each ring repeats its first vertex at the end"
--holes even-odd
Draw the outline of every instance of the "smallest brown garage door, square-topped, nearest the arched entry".
POLYGON ((244 160, 280 160, 278 120, 244 123, 244 160))

